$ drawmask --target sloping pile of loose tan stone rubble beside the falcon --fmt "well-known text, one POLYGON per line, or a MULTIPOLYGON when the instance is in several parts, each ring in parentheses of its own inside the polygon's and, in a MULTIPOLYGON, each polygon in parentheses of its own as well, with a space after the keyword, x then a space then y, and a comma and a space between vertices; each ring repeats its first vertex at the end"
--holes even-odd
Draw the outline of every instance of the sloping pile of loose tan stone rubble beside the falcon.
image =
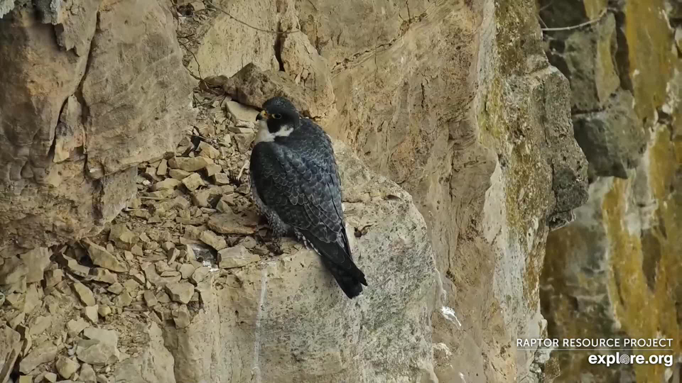
POLYGON ((1 254, 14 266, 0 274, 0 382, 114 382, 145 341, 139 323, 186 328, 202 284, 301 249, 264 240, 251 204, 257 111, 209 89, 195 105, 191 131, 175 153, 138 166, 138 193, 102 233, 1 254))

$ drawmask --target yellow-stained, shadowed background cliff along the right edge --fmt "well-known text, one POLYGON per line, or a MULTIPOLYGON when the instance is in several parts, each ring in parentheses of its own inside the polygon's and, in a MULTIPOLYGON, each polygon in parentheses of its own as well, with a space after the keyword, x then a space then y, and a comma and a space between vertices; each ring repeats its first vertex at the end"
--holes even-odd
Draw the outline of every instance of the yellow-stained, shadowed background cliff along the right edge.
MULTIPOLYGON (((541 2, 542 3, 542 2, 541 2)), ((678 1, 541 4, 551 62, 572 88, 590 198, 548 237, 543 315, 558 338, 680 343, 681 106, 678 1)), ((645 353, 649 355, 650 353, 645 353)), ((679 365, 598 367, 556 353, 557 382, 678 382, 679 365)))

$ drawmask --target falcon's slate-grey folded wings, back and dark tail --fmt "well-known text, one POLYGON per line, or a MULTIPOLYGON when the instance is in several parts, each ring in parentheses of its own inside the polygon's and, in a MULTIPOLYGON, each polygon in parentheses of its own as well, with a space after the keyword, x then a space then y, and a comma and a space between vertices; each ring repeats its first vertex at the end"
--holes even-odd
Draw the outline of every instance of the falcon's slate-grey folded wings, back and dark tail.
POLYGON ((313 245, 347 296, 357 296, 367 281, 352 260, 331 141, 307 119, 286 140, 254 146, 250 168, 256 191, 313 245))

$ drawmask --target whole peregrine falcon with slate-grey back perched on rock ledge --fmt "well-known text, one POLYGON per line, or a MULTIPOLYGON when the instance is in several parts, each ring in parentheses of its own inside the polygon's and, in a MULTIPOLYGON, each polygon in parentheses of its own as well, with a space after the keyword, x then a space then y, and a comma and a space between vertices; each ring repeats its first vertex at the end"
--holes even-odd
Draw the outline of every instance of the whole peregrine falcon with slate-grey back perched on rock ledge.
POLYGON ((354 298, 367 281, 350 254, 331 140, 288 99, 274 97, 263 109, 251 152, 251 195, 274 235, 296 235, 313 248, 354 298))

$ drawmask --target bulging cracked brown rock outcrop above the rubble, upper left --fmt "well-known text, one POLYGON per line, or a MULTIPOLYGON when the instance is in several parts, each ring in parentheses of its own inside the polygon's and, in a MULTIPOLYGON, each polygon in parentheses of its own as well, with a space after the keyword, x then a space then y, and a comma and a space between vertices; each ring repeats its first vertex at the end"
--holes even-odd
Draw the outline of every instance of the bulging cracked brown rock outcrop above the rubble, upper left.
POLYGON ((6 256, 102 230, 136 191, 134 165, 172 152, 192 113, 165 2, 37 4, 0 19, 6 256))

